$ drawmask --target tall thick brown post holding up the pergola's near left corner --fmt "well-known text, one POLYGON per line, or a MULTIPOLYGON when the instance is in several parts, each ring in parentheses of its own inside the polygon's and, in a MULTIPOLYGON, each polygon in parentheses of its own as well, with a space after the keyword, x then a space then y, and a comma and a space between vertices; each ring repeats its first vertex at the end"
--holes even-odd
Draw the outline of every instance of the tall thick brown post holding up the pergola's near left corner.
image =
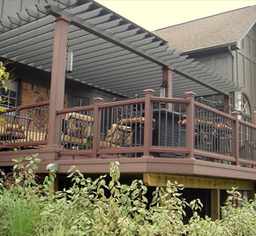
POLYGON ((56 18, 50 95, 49 95, 49 131, 47 148, 58 148, 61 134, 61 115, 56 110, 64 108, 65 63, 68 41, 68 27, 71 20, 65 17, 56 18))

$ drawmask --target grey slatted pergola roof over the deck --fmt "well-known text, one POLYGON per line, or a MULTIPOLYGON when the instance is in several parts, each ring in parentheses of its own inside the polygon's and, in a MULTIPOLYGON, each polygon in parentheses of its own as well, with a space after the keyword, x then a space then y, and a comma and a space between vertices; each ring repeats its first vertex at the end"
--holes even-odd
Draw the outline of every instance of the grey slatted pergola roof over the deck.
POLYGON ((169 84, 169 97, 176 98, 188 91, 204 96, 240 90, 228 78, 175 53, 154 33, 101 4, 59 2, 27 3, 26 9, 1 19, 0 55, 51 72, 53 85, 55 79, 64 81, 69 45, 74 53, 73 80, 128 97, 142 95, 145 89, 157 95, 162 80, 169 84))

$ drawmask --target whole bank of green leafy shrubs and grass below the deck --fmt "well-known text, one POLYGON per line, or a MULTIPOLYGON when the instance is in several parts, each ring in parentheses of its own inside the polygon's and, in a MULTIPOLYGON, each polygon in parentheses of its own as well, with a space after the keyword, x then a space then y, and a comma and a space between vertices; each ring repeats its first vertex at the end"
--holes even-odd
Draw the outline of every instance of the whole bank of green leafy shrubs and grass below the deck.
POLYGON ((255 235, 256 203, 241 199, 236 188, 229 191, 222 220, 212 221, 200 218, 199 199, 187 203, 182 198, 177 182, 155 188, 148 203, 142 181, 119 181, 117 162, 110 164, 110 178, 96 180, 72 166, 72 187, 53 193, 56 173, 37 178, 37 155, 14 161, 13 173, 2 171, 0 179, 2 235, 255 235), (185 207, 193 211, 187 225, 185 207))

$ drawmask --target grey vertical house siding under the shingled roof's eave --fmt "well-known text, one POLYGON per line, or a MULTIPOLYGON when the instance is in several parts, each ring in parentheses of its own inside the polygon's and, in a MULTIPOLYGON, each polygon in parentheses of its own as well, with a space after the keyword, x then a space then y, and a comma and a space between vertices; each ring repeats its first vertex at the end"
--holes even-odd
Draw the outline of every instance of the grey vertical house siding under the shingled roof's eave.
MULTIPOLYGON (((243 86, 245 93, 251 102, 252 121, 256 107, 256 26, 245 34, 238 42, 239 49, 230 51, 229 48, 204 50, 191 54, 196 62, 205 64, 212 70, 219 72, 223 77, 229 78, 238 85, 243 86)), ((233 100, 237 97, 235 92, 233 100)))

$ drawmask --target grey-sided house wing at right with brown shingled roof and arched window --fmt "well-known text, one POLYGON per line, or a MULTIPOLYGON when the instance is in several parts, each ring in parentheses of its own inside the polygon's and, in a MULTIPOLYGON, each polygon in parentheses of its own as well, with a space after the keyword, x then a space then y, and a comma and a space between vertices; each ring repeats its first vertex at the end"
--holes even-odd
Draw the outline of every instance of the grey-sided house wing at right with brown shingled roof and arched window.
POLYGON ((154 33, 170 48, 221 73, 242 86, 231 104, 254 123, 256 107, 256 5, 199 18, 154 33), (182 39, 182 41, 181 41, 182 39))

